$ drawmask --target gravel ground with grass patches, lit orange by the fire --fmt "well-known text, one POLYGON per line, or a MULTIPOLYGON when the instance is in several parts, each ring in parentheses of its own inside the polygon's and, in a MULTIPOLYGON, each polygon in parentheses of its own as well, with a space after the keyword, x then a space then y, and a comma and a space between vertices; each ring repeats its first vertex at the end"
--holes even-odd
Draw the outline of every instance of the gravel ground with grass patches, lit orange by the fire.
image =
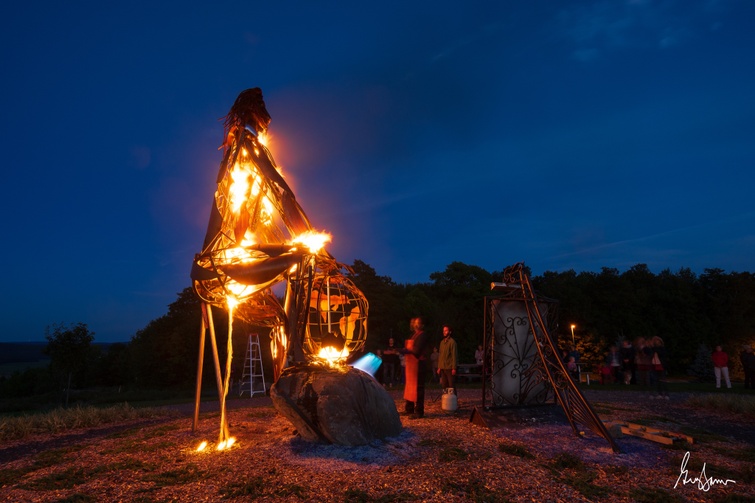
MULTIPOLYGON (((587 390, 602 419, 695 437, 665 447, 624 436, 616 454, 590 431, 577 437, 556 406, 483 427, 469 420, 479 390, 460 389, 455 413, 438 393, 428 390, 424 419, 402 416, 401 435, 362 447, 302 441, 266 397, 229 402, 237 443, 224 452, 195 450, 217 438, 216 404, 203 405, 195 433, 185 407, 179 418, 12 442, 0 449, 0 501, 755 501, 752 418, 696 410, 685 395, 587 390), (693 482, 703 464, 707 486, 693 482)), ((400 391, 391 395, 401 410, 400 391)))

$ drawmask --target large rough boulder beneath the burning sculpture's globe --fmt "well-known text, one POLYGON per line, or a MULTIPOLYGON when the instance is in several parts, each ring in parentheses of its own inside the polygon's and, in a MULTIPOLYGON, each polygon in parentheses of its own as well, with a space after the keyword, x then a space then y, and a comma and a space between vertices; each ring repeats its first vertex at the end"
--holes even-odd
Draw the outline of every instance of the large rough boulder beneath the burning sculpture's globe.
POLYGON ((273 406, 312 442, 365 445, 401 433, 393 398, 352 367, 289 367, 270 388, 273 406))

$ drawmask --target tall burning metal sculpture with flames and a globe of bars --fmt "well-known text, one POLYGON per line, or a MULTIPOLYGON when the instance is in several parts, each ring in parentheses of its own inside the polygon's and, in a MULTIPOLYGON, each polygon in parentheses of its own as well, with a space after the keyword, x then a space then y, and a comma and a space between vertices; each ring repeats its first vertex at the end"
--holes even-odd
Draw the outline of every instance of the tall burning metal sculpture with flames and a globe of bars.
MULTIPOLYGON (((202 251, 196 255, 191 269, 194 291, 203 302, 194 427, 198 421, 204 340, 209 329, 220 396, 221 448, 232 442, 225 398, 230 383, 234 318, 270 328, 276 381, 271 390, 274 404, 294 424, 297 418, 303 418, 305 424, 314 426, 310 429, 317 432, 318 438, 323 438, 323 434, 316 407, 313 409, 311 404, 311 386, 297 391, 289 383, 288 395, 280 398, 281 393, 275 393, 278 380, 284 369, 288 375, 297 373, 292 369, 302 372, 319 369, 321 373, 331 366, 336 375, 360 373, 346 368, 344 362, 349 354, 363 347, 367 336, 367 300, 346 276, 348 267, 325 251, 330 236, 312 228, 275 165, 265 146, 269 124, 262 91, 259 88, 243 91, 225 118, 225 141, 221 147, 224 154, 217 190, 202 251), (280 284, 285 285, 282 301, 273 292, 273 287, 280 284), (213 306, 229 314, 224 376, 218 358, 213 306), (293 396, 295 393, 306 394, 307 405, 303 406, 300 397, 293 396)), ((390 396, 386 397, 395 413, 390 396)), ((378 401, 385 402, 386 398, 378 401)), ((383 414, 384 408, 381 406, 374 412, 383 414)), ((400 430, 397 414, 393 423, 400 430)), ((394 429, 389 428, 389 434, 397 433, 394 429)), ((324 438, 338 441, 327 435, 324 438)))

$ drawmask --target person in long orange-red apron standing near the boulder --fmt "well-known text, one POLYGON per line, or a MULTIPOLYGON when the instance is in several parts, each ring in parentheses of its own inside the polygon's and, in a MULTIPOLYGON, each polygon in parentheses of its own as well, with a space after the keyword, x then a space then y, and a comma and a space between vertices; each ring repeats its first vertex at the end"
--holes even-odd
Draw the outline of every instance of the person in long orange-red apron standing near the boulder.
POLYGON ((412 419, 425 415, 425 375, 427 374, 427 355, 430 337, 425 332, 425 322, 421 317, 411 320, 413 334, 406 340, 405 347, 399 352, 404 355, 406 365, 406 386, 404 386, 404 413, 411 414, 412 419))

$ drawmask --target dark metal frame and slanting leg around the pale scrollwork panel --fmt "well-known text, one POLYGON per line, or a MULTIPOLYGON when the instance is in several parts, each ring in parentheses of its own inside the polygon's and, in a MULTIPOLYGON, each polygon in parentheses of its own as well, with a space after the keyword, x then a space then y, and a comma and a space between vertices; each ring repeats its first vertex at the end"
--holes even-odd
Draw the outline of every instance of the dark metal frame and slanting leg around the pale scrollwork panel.
MULTIPOLYGON (((517 401, 523 403, 536 390, 534 401, 544 402, 550 390, 552 390, 553 397, 564 410, 569 425, 578 437, 582 437, 582 433, 577 428, 577 424, 579 423, 589 428, 598 436, 606 439, 614 452, 619 452, 618 445, 616 445, 616 442, 609 434, 603 422, 582 395, 569 375, 564 363, 561 361, 558 346, 548 331, 549 324, 546 316, 541 311, 541 303, 544 299, 538 298, 535 294, 529 276, 525 272, 524 264, 520 262, 507 267, 503 272, 503 282, 497 286, 499 289, 508 292, 509 299, 520 300, 525 306, 526 320, 523 317, 506 320, 506 326, 511 330, 509 333, 513 334, 516 324, 520 324, 520 327, 522 327, 528 323, 529 333, 532 334, 532 345, 537 350, 537 358, 532 359, 531 366, 525 368, 513 364, 510 369, 507 369, 511 372, 511 378, 521 379, 521 394, 516 397, 517 401), (546 388, 543 388, 542 384, 545 384, 546 388)), ((494 369, 490 365, 493 362, 492 345, 494 342, 493 337, 495 336, 492 333, 495 323, 492 317, 495 316, 495 313, 490 311, 486 304, 484 346, 486 358, 483 365, 483 407, 486 403, 486 397, 487 400, 491 400, 493 397, 494 390, 491 388, 491 376, 494 372, 500 372, 506 368, 505 359, 499 359, 502 364, 499 369, 494 369)), ((526 348, 526 351, 529 350, 531 350, 531 347, 526 348)))

